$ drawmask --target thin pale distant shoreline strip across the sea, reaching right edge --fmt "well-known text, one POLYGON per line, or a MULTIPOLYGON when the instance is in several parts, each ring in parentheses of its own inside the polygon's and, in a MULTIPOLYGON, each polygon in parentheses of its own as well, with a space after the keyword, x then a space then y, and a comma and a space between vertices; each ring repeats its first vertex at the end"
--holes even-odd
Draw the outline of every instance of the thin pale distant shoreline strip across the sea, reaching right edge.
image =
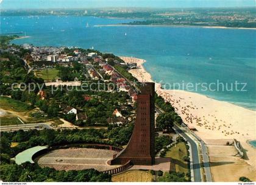
POLYGON ((193 27, 193 28, 207 28, 207 29, 245 29, 245 30, 256 30, 255 27, 225 27, 225 26, 179 26, 179 25, 147 25, 147 24, 98 24, 94 25, 93 27, 138 27, 138 26, 146 26, 146 27, 193 27))

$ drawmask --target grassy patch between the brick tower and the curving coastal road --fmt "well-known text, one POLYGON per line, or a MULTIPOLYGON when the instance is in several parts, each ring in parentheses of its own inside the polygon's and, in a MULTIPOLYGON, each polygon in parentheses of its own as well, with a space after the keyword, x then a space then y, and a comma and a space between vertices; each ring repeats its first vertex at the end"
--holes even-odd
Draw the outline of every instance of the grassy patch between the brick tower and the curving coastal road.
POLYGON ((184 161, 184 157, 188 156, 187 148, 185 142, 179 142, 176 147, 173 146, 169 148, 166 152, 166 158, 172 158, 175 163, 176 172, 188 173, 188 162, 184 161))

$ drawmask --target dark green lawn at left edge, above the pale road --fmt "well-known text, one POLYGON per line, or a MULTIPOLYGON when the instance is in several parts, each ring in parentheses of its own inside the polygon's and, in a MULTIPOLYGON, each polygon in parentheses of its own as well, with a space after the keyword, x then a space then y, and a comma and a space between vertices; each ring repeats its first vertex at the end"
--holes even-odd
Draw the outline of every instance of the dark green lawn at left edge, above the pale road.
POLYGON ((16 112, 31 110, 31 108, 26 103, 11 99, 9 97, 0 97, 0 108, 16 112))

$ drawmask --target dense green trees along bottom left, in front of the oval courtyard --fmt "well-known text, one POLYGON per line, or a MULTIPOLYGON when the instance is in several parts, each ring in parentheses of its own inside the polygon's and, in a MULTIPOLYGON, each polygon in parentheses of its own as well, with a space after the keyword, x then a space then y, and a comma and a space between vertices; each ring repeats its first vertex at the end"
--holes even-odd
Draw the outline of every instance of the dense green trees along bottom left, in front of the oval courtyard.
POLYGON ((110 182, 111 175, 94 169, 87 170, 55 170, 41 168, 38 164, 25 162, 21 165, 2 164, 1 180, 5 182, 110 182))

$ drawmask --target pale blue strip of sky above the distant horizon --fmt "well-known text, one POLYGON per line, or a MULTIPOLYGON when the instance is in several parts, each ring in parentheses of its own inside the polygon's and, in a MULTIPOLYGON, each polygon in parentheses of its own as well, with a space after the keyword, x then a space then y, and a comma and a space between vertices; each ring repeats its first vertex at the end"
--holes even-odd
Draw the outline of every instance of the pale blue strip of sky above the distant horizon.
POLYGON ((256 0, 0 0, 1 9, 255 7, 256 0))

